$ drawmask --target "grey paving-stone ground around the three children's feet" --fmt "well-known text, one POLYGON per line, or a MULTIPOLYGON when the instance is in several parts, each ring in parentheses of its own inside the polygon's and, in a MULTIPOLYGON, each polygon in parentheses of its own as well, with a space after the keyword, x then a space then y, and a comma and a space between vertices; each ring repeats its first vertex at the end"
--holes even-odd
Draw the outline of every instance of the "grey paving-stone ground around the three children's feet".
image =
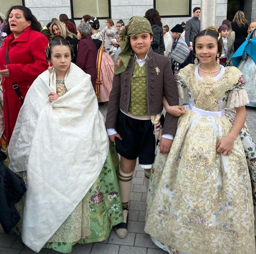
MULTIPOLYGON (((100 111, 106 116, 107 104, 100 106, 100 111)), ((256 140, 256 109, 247 108, 247 125, 254 140, 256 140)), ((149 235, 144 232, 146 209, 146 187, 144 172, 137 165, 133 177, 130 195, 129 234, 125 239, 119 239, 112 231, 109 238, 102 243, 76 244, 72 254, 166 254, 152 243, 149 235)), ((32 254, 34 251, 24 246, 15 234, 4 234, 0 228, 0 254, 32 254), (1 233, 2 232, 2 233, 1 233)), ((57 253, 42 249, 39 253, 57 253)))

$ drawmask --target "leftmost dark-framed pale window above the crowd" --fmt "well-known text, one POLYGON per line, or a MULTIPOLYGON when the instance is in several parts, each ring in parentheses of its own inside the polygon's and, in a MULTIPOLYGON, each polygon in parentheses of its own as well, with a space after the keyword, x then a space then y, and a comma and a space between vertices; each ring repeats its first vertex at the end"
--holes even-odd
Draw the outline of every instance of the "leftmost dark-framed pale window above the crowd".
POLYGON ((71 0, 71 15, 73 19, 82 19, 86 14, 93 17, 110 18, 110 0, 71 0))

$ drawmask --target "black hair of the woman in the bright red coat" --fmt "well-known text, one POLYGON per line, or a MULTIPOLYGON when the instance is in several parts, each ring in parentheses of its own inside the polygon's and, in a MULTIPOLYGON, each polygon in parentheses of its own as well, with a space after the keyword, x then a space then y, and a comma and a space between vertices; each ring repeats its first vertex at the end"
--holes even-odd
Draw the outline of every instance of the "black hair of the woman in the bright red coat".
MULTIPOLYGON (((24 17, 27 21, 31 21, 31 29, 40 32, 42 30, 41 24, 39 23, 39 21, 36 19, 36 17, 32 14, 31 10, 25 6, 21 6, 21 5, 14 5, 12 6, 6 13, 6 20, 9 19, 10 13, 12 12, 12 10, 22 10, 24 13, 24 17)), ((6 33, 8 35, 10 35, 11 29, 10 29, 10 24, 9 22, 6 22, 6 33)))

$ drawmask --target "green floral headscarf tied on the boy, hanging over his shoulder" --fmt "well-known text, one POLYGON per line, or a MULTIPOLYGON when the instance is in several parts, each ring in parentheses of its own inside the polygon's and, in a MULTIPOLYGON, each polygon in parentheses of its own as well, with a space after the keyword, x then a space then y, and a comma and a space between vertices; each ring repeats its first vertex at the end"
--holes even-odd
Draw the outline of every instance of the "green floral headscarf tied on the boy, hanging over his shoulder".
POLYGON ((133 50, 130 45, 130 37, 140 33, 150 33, 153 36, 151 24, 149 21, 146 18, 139 16, 131 18, 126 28, 122 27, 120 29, 120 53, 115 63, 115 75, 126 70, 130 59, 133 57, 133 50))

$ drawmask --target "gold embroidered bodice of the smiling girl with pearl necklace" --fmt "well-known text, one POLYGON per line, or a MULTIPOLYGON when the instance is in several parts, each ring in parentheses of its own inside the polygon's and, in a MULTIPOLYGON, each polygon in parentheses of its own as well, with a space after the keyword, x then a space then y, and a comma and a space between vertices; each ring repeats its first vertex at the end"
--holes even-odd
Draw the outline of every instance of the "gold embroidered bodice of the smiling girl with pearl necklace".
POLYGON ((244 90, 243 84, 239 83, 242 73, 236 67, 223 68, 216 78, 201 78, 198 67, 192 64, 181 69, 176 76, 179 95, 184 97, 184 93, 187 93, 187 100, 192 105, 207 111, 221 111, 229 107, 231 101, 236 99, 234 97, 238 96, 234 93, 244 90))

